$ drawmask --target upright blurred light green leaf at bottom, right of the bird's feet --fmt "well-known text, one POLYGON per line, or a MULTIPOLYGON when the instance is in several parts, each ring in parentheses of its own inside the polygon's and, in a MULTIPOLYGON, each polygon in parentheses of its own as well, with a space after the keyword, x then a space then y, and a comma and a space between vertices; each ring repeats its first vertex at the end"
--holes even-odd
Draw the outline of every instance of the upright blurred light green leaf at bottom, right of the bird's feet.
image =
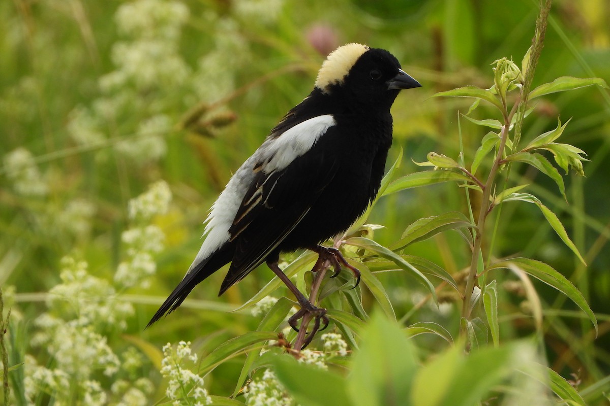
POLYGON ((351 406, 404 405, 418 368, 415 346, 395 321, 376 312, 362 331, 347 382, 351 406))

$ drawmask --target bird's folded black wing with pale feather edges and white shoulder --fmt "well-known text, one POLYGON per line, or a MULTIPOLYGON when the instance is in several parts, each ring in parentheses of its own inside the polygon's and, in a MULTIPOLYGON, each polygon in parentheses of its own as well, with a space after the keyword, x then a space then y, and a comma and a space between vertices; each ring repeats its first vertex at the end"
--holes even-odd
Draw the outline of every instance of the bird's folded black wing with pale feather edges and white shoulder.
POLYGON ((229 241, 236 243, 235 254, 221 294, 265 261, 301 222, 334 177, 336 151, 315 148, 319 138, 334 132, 332 116, 321 117, 326 118, 305 121, 300 128, 297 125, 274 139, 278 144, 268 147, 267 153, 262 154, 264 159, 254 165, 256 178, 229 228, 229 241), (328 125, 329 117, 332 125, 328 125), (301 132, 296 133, 295 128, 301 132), (311 132, 303 132, 307 129, 318 131, 313 141, 311 132))

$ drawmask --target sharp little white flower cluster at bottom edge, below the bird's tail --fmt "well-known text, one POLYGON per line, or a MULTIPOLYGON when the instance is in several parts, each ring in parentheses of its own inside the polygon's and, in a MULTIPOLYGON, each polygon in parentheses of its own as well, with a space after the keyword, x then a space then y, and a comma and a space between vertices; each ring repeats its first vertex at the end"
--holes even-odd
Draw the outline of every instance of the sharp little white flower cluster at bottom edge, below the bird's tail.
POLYGON ((203 378, 190 369, 196 362, 197 354, 192 353, 190 341, 180 341, 175 348, 171 343, 163 346, 161 374, 169 379, 165 394, 173 406, 212 404, 212 398, 203 388, 203 378))

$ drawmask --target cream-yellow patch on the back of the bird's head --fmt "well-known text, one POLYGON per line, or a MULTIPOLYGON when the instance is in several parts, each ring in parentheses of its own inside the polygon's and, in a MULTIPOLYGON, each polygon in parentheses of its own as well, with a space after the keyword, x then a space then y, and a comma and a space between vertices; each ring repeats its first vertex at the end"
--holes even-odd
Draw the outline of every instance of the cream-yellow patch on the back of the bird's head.
POLYGON ((343 82, 354 63, 367 51, 368 46, 356 43, 345 44, 332 51, 318 72, 315 87, 327 93, 328 86, 343 82))

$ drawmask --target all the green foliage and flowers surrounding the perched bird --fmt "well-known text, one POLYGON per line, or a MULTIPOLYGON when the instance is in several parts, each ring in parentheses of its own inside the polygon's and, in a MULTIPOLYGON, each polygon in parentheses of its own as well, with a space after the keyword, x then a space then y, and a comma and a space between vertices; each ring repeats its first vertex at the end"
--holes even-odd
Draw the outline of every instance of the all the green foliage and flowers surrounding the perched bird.
POLYGON ((4 404, 607 404, 606 2, 98 3, 0 2, 4 404), (265 267, 144 330, 231 172, 351 41, 424 85, 328 242, 362 283, 282 256, 331 320, 300 353, 265 267))

